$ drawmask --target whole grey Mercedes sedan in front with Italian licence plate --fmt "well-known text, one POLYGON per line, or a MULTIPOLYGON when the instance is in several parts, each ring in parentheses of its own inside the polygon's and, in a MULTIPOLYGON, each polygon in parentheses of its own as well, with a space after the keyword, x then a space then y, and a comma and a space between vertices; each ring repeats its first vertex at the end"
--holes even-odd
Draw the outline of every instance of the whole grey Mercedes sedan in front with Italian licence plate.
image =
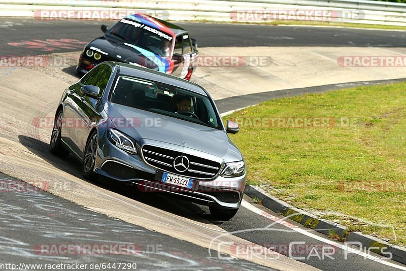
POLYGON ((207 205, 216 219, 238 211, 246 164, 209 93, 130 64, 98 64, 63 92, 50 151, 82 162, 85 178, 128 182, 207 205))

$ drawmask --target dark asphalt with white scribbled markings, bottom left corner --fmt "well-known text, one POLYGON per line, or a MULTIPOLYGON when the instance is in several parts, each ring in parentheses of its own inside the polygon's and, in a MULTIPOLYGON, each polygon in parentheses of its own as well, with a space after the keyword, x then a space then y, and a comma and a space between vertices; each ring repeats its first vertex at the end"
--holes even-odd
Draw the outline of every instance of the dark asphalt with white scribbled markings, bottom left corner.
POLYGON ((150 270, 269 270, 245 260, 210 257, 205 248, 85 210, 23 182, 16 186, 15 180, 0 178, 0 187, 0 259, 3 262, 136 262, 141 269, 150 270), (113 255, 97 251, 77 253, 80 250, 67 253, 57 249, 55 253, 47 253, 47 248, 41 248, 41 245, 57 248, 70 244, 134 244, 137 251, 113 255))

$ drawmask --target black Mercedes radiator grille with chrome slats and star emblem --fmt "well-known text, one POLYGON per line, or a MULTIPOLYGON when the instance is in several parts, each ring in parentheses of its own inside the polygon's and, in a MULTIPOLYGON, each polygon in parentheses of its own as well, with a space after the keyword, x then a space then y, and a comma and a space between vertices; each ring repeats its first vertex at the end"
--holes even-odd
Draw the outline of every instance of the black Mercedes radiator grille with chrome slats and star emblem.
POLYGON ((162 171, 188 176, 193 179, 212 179, 220 171, 221 164, 212 160, 197 157, 183 152, 167 150, 164 148, 145 145, 142 149, 145 161, 162 171), (185 156, 183 164, 188 162, 188 168, 175 166, 179 164, 181 157, 185 156), (177 163, 175 163, 177 162, 177 163), (181 169, 181 171, 179 170, 181 169))

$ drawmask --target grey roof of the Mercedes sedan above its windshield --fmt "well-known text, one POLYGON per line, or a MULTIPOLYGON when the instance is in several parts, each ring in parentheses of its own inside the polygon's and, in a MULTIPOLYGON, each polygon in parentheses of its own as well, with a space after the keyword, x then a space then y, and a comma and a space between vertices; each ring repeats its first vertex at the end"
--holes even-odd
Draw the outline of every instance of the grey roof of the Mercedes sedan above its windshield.
POLYGON ((120 67, 119 75, 133 76, 133 77, 138 77, 141 79, 161 82, 164 84, 183 88, 183 89, 192 91, 192 92, 200 94, 200 95, 208 96, 206 91, 199 85, 197 85, 193 82, 181 79, 179 77, 167 75, 162 72, 153 71, 146 67, 139 67, 139 66, 135 66, 135 65, 127 64, 127 63, 115 62, 115 61, 105 61, 104 63, 106 63, 106 62, 109 62, 112 65, 119 66, 120 67))

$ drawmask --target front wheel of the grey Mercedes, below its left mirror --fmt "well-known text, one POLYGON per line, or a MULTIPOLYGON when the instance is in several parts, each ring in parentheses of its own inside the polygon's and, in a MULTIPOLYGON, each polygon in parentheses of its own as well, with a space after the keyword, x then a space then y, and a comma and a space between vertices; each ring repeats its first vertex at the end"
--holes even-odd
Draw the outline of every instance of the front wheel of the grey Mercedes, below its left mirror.
POLYGON ((82 175, 89 181, 97 181, 97 175, 93 172, 94 164, 96 162, 97 145, 97 132, 93 131, 87 139, 82 160, 82 175))

